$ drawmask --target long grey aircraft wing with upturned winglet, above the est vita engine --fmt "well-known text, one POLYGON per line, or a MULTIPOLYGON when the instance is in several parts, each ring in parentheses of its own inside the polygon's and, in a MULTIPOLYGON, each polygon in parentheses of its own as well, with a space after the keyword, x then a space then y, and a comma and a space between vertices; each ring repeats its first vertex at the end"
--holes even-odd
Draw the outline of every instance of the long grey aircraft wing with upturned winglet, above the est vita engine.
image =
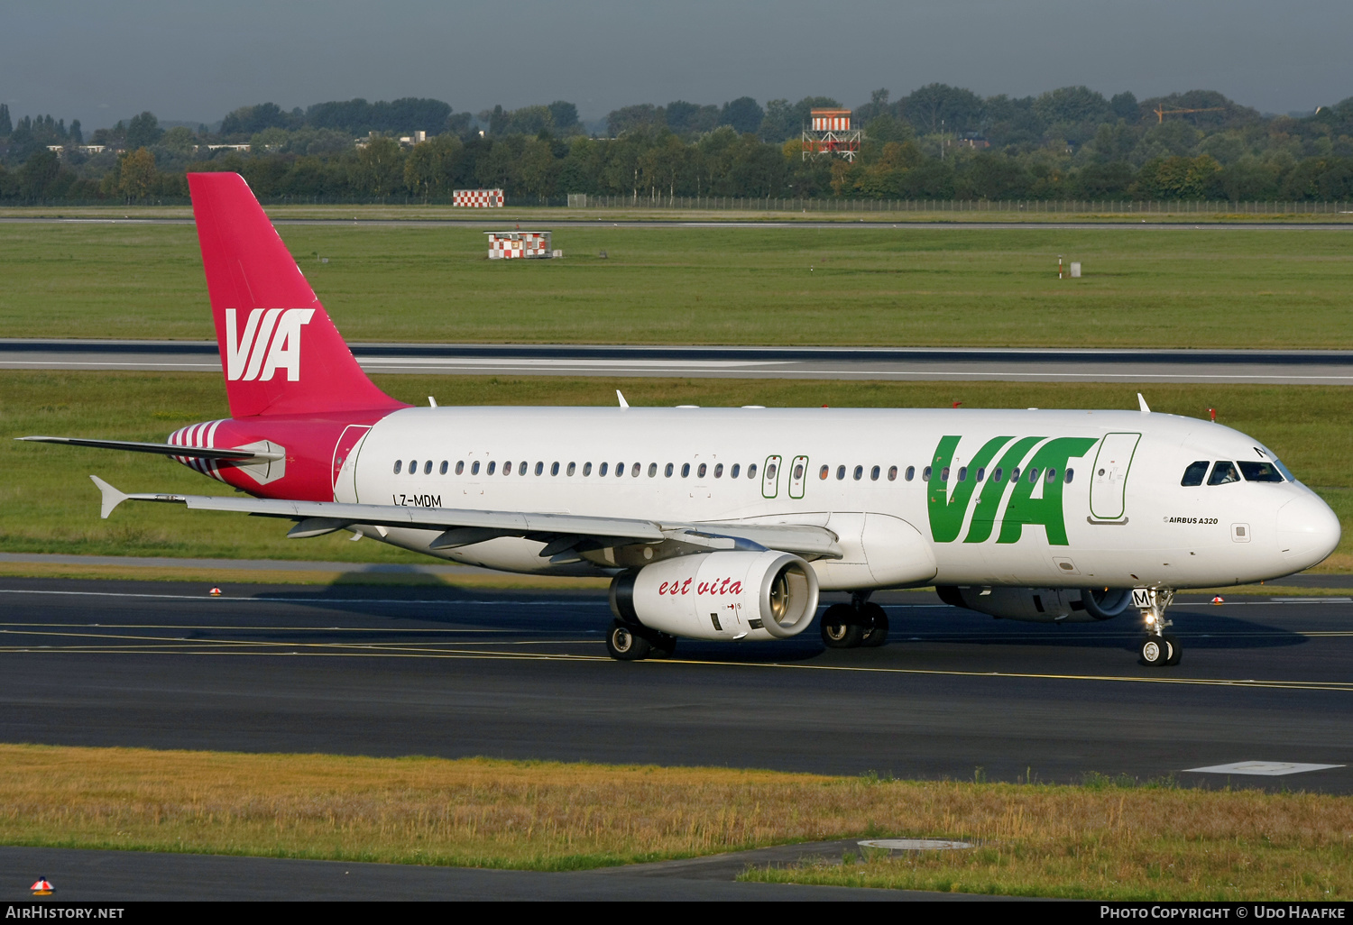
POLYGON ((570 550, 587 541, 614 546, 666 540, 702 549, 779 549, 805 556, 840 559, 836 534, 809 525, 667 523, 574 514, 533 514, 525 511, 479 511, 403 504, 349 504, 345 502, 283 500, 275 498, 223 498, 218 495, 126 494, 97 476, 89 476, 103 494, 101 517, 107 518, 124 500, 184 504, 199 511, 234 511, 254 517, 296 521, 287 534, 294 538, 365 525, 441 530, 433 549, 453 549, 494 537, 534 537, 545 540, 541 556, 570 557, 570 550))

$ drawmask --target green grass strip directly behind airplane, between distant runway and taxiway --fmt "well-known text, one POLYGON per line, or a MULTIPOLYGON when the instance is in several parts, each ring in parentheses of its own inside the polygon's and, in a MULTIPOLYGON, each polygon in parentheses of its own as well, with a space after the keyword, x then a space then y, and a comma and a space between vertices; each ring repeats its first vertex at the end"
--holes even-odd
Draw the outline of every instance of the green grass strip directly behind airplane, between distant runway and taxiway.
MULTIPOLYGON (((1161 412, 1220 421, 1277 450, 1334 507, 1344 541, 1325 571, 1353 571, 1353 389, 1291 385, 1131 385, 1061 383, 836 383, 801 380, 553 379, 383 376, 411 403, 1135 408, 1141 388, 1161 412)), ((222 559, 428 563, 348 534, 285 540, 285 523, 177 506, 119 508, 99 519, 91 473, 124 491, 227 491, 187 467, 139 453, 19 444, 26 434, 162 441, 226 414, 221 379, 204 373, 42 373, 0 371, 0 552, 222 559)))

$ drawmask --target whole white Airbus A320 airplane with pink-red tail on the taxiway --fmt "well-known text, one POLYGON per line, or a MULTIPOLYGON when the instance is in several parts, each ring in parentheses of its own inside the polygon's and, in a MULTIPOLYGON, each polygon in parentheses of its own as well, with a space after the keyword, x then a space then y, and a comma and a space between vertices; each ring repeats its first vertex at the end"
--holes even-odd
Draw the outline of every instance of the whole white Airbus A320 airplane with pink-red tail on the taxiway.
POLYGON ((410 407, 353 360, 244 179, 188 176, 230 417, 166 444, 250 498, 124 500, 349 530, 509 572, 609 576, 616 659, 676 637, 783 640, 820 591, 823 641, 882 645, 878 588, 935 586, 993 617, 1141 613, 1170 665, 1174 590, 1325 559, 1339 522, 1266 446, 1141 411, 410 407))

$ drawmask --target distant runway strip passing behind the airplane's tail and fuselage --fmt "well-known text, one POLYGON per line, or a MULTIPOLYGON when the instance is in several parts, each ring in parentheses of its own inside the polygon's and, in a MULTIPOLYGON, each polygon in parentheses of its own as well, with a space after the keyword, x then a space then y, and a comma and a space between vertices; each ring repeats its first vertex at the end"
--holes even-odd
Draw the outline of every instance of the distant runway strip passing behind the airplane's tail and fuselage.
MULTIPOLYGON (((1353 350, 353 343, 367 372, 894 381, 1353 384, 1353 350)), ((0 369, 219 372, 211 341, 0 339, 0 369)))

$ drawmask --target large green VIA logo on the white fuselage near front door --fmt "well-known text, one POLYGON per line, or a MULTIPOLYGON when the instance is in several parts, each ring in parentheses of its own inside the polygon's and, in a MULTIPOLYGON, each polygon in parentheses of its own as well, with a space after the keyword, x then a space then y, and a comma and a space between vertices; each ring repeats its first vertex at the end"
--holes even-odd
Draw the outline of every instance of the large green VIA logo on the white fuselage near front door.
POLYGON ((967 508, 976 507, 967 526, 963 542, 985 542, 1000 523, 996 542, 1017 542, 1026 526, 1040 525, 1047 531, 1047 542, 1065 546, 1066 517, 1062 513, 1062 485, 1068 460, 1085 456, 1091 446, 1099 442, 1093 437, 1057 437, 1038 448, 1027 464, 1024 456, 1038 446, 1045 437, 993 437, 982 444, 971 460, 963 467, 966 477, 953 472, 954 450, 961 437, 943 437, 935 448, 931 464, 927 510, 930 513, 931 536, 935 542, 954 542, 963 529, 967 508), (1013 444, 1011 441, 1015 441, 1013 444), (1001 450, 1005 450, 1001 453, 1001 450), (997 460, 997 454, 1000 458, 997 460), (993 465, 994 461, 994 465, 993 465), (981 469, 990 477, 978 481, 981 469), (1016 471, 1019 472, 1015 476, 1016 471), (1049 479, 1047 473, 1053 477, 1049 479), (947 475, 944 475, 947 473, 947 475), (954 485, 950 494, 950 483, 954 485), (1038 488, 1040 496, 1035 498, 1038 488), (1009 495, 1005 513, 1001 515, 1001 500, 1009 495), (1000 515, 1000 519, 997 519, 1000 515))

